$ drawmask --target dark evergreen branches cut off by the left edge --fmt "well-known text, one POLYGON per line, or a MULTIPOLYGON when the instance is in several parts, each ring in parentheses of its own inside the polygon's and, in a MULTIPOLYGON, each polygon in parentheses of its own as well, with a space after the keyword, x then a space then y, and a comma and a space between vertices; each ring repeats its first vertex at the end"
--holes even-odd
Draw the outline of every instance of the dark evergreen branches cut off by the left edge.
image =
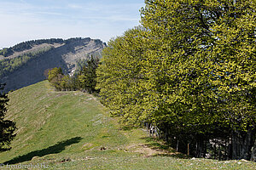
MULTIPOLYGON (((0 84, 0 90, 3 90, 4 85, 0 84)), ((9 150, 10 141, 15 138, 15 122, 6 120, 7 103, 9 102, 8 95, 0 93, 0 152, 9 150)))

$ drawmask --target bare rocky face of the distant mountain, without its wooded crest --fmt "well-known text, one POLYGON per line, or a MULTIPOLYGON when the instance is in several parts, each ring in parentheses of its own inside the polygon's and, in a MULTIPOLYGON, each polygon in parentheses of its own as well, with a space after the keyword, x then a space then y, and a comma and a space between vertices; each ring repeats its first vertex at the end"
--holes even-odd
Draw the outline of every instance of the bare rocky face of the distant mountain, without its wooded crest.
POLYGON ((90 38, 71 38, 63 43, 35 45, 29 50, 12 54, 8 58, 12 59, 20 54, 31 53, 33 50, 47 46, 50 47, 50 50, 44 54, 30 59, 25 65, 0 77, 0 82, 6 83, 5 91, 43 81, 45 79, 44 71, 50 68, 61 67, 65 74, 70 74, 76 69, 77 60, 88 59, 90 54, 101 55, 106 43, 90 38))

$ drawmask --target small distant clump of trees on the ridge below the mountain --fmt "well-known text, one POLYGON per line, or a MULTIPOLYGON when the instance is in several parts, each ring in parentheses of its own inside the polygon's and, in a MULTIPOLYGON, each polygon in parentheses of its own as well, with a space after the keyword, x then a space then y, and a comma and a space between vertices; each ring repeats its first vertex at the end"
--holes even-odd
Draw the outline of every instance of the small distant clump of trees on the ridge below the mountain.
POLYGON ((81 71, 73 76, 64 75, 61 68, 47 71, 48 80, 56 90, 81 90, 90 94, 96 92, 96 68, 99 64, 97 57, 91 56, 86 60, 81 71))

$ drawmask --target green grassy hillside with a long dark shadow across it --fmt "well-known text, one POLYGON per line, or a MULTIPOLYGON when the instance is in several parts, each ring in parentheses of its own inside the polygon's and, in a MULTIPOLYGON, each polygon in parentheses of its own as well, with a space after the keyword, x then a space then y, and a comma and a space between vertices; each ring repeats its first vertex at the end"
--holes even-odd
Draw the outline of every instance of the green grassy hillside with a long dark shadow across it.
POLYGON ((15 120, 18 130, 12 149, 0 153, 4 164, 0 169, 7 169, 7 164, 42 164, 48 169, 256 167, 251 161, 186 158, 149 139, 143 129, 120 128, 118 120, 92 95, 55 92, 47 81, 12 92, 9 99, 7 118, 15 120))

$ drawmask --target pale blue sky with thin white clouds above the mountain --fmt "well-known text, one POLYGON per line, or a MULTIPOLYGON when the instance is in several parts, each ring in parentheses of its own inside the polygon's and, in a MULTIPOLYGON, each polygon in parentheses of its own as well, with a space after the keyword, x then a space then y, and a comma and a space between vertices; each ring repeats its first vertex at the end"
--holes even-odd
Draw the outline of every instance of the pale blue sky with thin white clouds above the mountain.
POLYGON ((111 37, 139 25, 144 0, 0 0, 0 48, 50 37, 111 37))

